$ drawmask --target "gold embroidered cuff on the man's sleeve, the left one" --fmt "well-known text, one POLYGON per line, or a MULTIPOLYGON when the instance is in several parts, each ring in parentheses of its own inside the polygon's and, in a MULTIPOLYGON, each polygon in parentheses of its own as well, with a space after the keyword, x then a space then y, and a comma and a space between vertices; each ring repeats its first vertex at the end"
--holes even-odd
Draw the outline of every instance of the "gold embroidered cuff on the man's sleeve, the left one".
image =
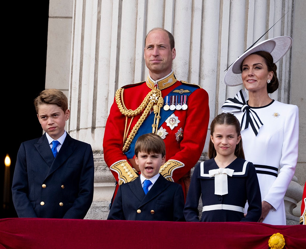
POLYGON ((110 166, 110 170, 116 171, 118 173, 119 185, 122 183, 129 183, 138 177, 137 173, 126 160, 113 164, 110 166))

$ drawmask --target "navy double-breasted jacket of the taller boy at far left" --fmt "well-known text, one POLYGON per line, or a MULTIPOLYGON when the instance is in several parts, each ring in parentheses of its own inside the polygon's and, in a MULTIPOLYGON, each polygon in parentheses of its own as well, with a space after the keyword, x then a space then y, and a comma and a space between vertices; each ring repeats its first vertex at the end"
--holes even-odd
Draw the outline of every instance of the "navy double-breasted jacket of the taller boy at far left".
POLYGON ((67 134, 54 158, 46 134, 21 143, 12 196, 18 217, 83 219, 93 199, 91 145, 67 134))

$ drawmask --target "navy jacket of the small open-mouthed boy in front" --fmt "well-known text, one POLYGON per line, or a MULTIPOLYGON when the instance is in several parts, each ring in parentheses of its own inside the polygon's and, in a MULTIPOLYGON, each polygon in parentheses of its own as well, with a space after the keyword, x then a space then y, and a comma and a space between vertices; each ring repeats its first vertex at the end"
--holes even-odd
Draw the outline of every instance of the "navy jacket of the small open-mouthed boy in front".
POLYGON ((185 221, 184 193, 180 184, 166 180, 162 175, 147 194, 140 177, 119 186, 108 220, 131 221, 185 221))

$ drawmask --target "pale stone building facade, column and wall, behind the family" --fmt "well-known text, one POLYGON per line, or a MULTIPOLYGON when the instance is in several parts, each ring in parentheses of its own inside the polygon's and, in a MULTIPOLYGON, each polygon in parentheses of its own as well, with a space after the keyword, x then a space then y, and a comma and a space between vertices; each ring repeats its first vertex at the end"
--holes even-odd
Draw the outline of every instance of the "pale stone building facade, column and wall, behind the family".
MULTIPOLYGON (((226 68, 281 19, 259 42, 282 35, 293 38, 292 48, 277 63, 280 87, 271 97, 299 107, 299 144, 304 145, 304 13, 303 0, 50 0, 45 87, 66 93, 71 110, 66 130, 94 150, 95 194, 86 218, 107 217, 114 177, 103 160, 105 123, 115 91, 147 77, 144 38, 151 28, 162 27, 174 35, 176 77, 208 92, 211 121, 226 98, 241 88, 226 87, 226 68)), ((300 215, 299 193, 306 180, 303 147, 299 146, 296 179, 289 186, 298 194, 288 189, 285 198, 287 219, 293 224, 300 215)))

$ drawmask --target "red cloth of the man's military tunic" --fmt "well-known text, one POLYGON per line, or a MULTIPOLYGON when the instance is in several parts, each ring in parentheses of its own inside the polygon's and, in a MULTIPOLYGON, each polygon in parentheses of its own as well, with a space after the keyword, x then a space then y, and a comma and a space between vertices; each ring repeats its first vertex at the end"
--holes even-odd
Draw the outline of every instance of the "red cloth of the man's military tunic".
MULTIPOLYGON (((191 84, 176 81, 173 85, 161 90, 162 97, 164 98, 168 94, 171 95, 170 92, 178 86, 181 86, 181 88, 184 89, 184 85, 191 84)), ((164 138, 166 145, 166 162, 168 160, 176 160, 182 164, 182 167, 177 167, 172 171, 172 175, 168 180, 181 184, 185 198, 189 185, 187 184, 188 186, 186 186, 186 181, 184 182, 183 176, 185 176, 185 178, 187 177, 190 182, 190 175, 188 174, 190 174, 191 168, 195 166, 203 152, 209 122, 208 94, 198 85, 193 86, 196 89, 187 98, 188 108, 186 110, 175 110, 173 113, 180 121, 177 126, 171 130, 170 127, 167 126, 166 121, 159 123, 158 126, 158 128, 162 126, 162 128, 168 132, 164 138), (183 131, 182 138, 177 141, 176 133, 180 128, 183 131)), ((147 94, 151 91, 145 81, 138 84, 127 85, 123 88, 123 103, 126 108, 130 110, 137 109, 147 94)), ((165 104, 166 103, 164 103, 164 105, 165 104)), ((130 134, 141 114, 142 113, 134 116, 132 125, 127 134, 130 134)), ((125 115, 120 112, 116 101, 114 101, 106 122, 103 138, 104 160, 109 168, 118 161, 129 159, 122 152, 122 147, 124 145, 123 136, 126 126, 125 119, 125 115)), ((127 126, 129 126, 130 120, 131 118, 129 117, 127 126)), ((132 165, 133 168, 135 168, 134 166, 135 165, 132 165)), ((111 172, 118 183, 118 172, 113 170, 111 170, 111 172)), ((117 193, 118 187, 119 184, 116 185, 113 198, 117 193)))

